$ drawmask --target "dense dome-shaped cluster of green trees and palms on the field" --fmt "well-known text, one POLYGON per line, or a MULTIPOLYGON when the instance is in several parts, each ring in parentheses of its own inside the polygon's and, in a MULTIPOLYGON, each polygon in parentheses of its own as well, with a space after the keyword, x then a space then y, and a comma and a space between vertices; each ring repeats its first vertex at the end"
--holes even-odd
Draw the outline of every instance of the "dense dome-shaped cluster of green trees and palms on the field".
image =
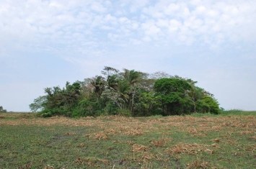
POLYGON ((100 76, 73 84, 67 82, 64 88, 45 88, 45 96, 35 99, 30 109, 39 111, 43 117, 219 114, 213 94, 195 83, 162 72, 149 74, 105 67, 100 76))

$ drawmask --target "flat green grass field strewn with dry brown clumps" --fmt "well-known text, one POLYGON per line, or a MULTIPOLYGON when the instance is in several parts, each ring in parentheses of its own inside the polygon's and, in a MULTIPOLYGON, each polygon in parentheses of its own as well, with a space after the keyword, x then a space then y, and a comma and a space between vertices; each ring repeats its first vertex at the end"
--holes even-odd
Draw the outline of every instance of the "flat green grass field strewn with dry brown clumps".
POLYGON ((4 168, 256 168, 256 112, 79 119, 0 113, 4 168))

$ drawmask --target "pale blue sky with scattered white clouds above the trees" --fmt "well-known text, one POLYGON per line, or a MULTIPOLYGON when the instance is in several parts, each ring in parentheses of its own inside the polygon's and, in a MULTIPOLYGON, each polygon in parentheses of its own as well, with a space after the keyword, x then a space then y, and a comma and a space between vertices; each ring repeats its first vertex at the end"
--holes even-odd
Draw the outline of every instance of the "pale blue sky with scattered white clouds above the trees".
POLYGON ((255 0, 1 0, 0 106, 105 66, 198 81, 224 109, 256 110, 255 0))

